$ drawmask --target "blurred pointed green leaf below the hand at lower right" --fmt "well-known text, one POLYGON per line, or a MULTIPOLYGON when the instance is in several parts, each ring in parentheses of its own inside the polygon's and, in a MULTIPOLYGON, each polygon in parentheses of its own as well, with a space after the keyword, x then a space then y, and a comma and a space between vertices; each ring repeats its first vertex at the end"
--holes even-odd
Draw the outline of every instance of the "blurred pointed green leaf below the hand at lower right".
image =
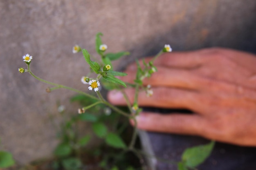
POLYGON ((194 146, 187 148, 182 154, 182 161, 186 163, 187 167, 195 168, 204 162, 207 157, 211 154, 214 146, 214 141, 209 144, 194 146))

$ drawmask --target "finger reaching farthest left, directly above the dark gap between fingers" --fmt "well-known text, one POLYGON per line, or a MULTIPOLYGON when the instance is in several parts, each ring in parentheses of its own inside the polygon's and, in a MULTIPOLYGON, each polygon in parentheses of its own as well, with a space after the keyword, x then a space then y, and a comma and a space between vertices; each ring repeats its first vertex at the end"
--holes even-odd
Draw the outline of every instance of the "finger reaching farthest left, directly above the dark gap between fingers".
MULTIPOLYGON (((202 104, 200 104, 196 98, 198 93, 195 91, 186 91, 176 88, 152 88, 153 95, 151 97, 146 96, 145 91, 139 92, 138 104, 139 106, 150 106, 158 108, 186 108, 193 111, 200 111, 202 104)), ((134 102, 135 89, 126 88, 128 100, 132 104, 134 102)), ((115 105, 126 105, 126 101, 120 91, 110 91, 108 93, 108 100, 115 105)))

